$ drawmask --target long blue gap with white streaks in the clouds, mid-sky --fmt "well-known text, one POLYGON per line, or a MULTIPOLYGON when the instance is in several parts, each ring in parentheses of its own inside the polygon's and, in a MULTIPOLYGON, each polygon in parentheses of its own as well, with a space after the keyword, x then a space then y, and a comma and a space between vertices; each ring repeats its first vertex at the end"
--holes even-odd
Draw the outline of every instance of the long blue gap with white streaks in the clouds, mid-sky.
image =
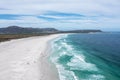
POLYGON ((78 20, 84 18, 84 15, 76 14, 76 13, 64 13, 64 12, 56 12, 56 11, 48 11, 44 14, 38 16, 40 19, 44 19, 47 21, 61 21, 61 20, 78 20))

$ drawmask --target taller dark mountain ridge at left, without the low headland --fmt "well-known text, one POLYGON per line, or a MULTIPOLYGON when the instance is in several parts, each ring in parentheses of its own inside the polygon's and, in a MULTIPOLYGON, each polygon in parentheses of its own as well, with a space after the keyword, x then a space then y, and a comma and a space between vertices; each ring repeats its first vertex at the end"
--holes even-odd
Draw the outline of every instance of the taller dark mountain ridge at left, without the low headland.
POLYGON ((9 26, 0 28, 0 34, 37 34, 37 33, 56 33, 54 28, 24 28, 19 26, 9 26))

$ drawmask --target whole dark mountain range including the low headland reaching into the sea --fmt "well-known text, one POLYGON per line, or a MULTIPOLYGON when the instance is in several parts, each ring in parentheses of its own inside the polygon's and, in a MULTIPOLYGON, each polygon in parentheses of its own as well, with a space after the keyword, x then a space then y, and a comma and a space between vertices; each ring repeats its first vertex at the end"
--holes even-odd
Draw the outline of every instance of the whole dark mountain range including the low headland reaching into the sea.
POLYGON ((71 30, 59 31, 55 28, 25 28, 19 26, 9 26, 0 28, 0 34, 40 34, 40 33, 91 33, 102 32, 101 30, 71 30))

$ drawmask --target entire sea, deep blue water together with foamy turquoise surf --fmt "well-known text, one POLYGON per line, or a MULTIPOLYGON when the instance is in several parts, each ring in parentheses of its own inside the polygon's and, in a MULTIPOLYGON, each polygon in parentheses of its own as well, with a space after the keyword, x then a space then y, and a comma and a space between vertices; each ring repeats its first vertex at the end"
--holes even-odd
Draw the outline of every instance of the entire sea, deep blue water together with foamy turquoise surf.
POLYGON ((60 80, 120 80, 120 33, 65 35, 52 53, 60 80))

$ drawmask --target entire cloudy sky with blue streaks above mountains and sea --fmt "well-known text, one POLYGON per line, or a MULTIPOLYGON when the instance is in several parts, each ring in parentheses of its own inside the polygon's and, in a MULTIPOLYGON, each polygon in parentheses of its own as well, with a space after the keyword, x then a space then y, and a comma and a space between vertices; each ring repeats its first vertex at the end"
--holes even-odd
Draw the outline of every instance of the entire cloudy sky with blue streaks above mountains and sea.
POLYGON ((0 27, 120 31, 120 0, 0 0, 0 27))

